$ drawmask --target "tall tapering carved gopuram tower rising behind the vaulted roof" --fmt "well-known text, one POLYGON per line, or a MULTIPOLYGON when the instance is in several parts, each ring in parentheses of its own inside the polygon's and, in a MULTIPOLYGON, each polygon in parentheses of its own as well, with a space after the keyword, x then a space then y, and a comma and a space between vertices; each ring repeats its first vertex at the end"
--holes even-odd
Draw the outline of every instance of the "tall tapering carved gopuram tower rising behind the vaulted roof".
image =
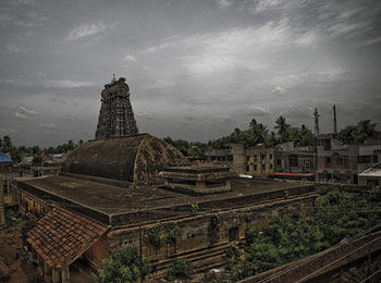
POLYGON ((130 101, 130 87, 124 77, 105 85, 96 139, 122 137, 138 134, 133 108, 130 101))

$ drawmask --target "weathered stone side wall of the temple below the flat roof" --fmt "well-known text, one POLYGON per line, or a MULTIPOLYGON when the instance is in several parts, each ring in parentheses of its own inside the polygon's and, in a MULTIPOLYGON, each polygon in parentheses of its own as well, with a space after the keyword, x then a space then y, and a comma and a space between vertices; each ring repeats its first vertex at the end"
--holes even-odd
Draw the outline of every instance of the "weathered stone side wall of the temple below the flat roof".
MULTIPOLYGON (((255 206, 225 211, 214 210, 184 219, 162 220, 156 223, 162 226, 164 242, 160 248, 156 248, 149 243, 149 229, 156 224, 143 224, 143 254, 151 262, 159 262, 243 239, 247 227, 266 224, 270 219, 284 214, 306 213, 312 207, 316 196, 315 193, 309 193, 288 198, 284 194, 283 199, 255 206), (218 216, 220 222, 218 227, 211 230, 211 218, 216 216, 218 216), (177 225, 182 231, 182 236, 177 244, 165 241, 169 231, 174 225, 177 225)), ((179 212, 175 213, 179 216, 179 212)), ((139 227, 113 229, 108 234, 108 241, 111 250, 130 245, 138 247, 139 227)))

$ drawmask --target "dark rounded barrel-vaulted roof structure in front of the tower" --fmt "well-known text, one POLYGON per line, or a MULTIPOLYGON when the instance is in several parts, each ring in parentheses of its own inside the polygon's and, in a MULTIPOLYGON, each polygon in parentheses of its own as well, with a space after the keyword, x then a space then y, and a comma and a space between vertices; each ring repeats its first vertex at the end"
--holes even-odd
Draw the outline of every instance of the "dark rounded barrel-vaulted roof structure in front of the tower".
POLYGON ((173 146, 149 134, 94 139, 76 148, 62 172, 127 182, 151 182, 168 167, 188 164, 173 146))

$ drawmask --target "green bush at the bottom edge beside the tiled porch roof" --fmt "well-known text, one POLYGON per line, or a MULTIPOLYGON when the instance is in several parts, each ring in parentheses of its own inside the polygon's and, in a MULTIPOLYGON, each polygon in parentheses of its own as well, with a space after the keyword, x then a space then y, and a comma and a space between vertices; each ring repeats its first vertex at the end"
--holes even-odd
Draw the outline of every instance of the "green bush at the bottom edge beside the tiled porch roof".
MULTIPOLYGON (((148 261, 143 259, 143 274, 148 274, 148 261)), ((136 247, 125 247, 102 260, 98 270, 99 283, 135 283, 140 278, 139 255, 136 247)))

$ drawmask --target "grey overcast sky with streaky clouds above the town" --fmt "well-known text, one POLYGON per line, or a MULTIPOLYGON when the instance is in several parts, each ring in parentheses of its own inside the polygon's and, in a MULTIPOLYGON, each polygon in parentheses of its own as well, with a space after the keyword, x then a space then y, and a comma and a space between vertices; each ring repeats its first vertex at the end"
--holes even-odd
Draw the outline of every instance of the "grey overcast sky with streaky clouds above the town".
MULTIPOLYGON (((381 124, 378 0, 9 0, 0 5, 0 136, 94 138, 125 76, 139 131, 207 142, 247 128, 381 124)), ((380 127, 379 127, 380 128, 380 127)))

